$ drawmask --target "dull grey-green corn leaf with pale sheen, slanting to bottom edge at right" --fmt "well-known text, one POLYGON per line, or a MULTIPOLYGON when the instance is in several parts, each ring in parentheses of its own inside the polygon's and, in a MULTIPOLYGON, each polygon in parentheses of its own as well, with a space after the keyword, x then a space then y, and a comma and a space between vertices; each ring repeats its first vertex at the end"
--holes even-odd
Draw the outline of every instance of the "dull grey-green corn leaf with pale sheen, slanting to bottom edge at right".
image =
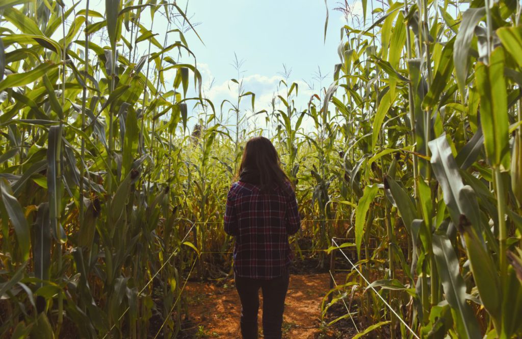
POLYGON ((444 294, 456 314, 455 322, 461 338, 482 337, 479 324, 466 303, 466 285, 459 272, 459 262, 452 243, 445 235, 433 235, 433 254, 440 275, 444 294))

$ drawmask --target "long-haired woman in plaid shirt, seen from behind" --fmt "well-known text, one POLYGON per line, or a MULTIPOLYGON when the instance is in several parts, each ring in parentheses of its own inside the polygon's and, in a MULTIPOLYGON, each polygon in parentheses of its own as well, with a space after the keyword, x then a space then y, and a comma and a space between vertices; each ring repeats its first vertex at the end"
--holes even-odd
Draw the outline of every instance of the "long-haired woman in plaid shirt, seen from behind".
POLYGON ((257 338, 259 288, 263 292, 263 333, 281 338, 284 298, 293 255, 288 236, 301 227, 295 194, 264 137, 248 140, 239 182, 230 188, 225 232, 235 236, 235 286, 241 299, 243 338, 257 338))

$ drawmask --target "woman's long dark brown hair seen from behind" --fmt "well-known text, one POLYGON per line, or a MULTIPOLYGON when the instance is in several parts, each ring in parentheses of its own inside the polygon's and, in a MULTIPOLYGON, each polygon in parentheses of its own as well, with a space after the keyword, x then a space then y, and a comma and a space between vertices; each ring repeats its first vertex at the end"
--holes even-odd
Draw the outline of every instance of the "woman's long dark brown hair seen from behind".
POLYGON ((281 169, 276 148, 265 137, 255 137, 246 142, 239 178, 242 182, 259 185, 262 191, 270 191, 276 186, 286 190, 286 183, 290 183, 281 169))

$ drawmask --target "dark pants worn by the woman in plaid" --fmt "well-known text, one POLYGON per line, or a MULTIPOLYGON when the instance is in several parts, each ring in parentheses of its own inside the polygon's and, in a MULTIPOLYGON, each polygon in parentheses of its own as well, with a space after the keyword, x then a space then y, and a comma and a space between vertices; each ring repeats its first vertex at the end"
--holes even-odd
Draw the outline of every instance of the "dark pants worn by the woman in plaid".
POLYGON ((280 339, 283 324, 284 298, 287 296, 289 274, 274 279, 235 277, 241 299, 241 334, 243 339, 257 338, 259 288, 263 292, 263 334, 266 339, 280 339))

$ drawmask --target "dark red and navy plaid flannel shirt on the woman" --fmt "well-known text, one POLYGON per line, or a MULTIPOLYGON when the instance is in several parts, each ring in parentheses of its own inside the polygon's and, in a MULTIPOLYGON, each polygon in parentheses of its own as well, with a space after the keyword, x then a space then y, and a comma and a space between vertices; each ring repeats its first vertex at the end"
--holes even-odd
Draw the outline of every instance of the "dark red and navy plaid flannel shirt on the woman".
POLYGON ((262 193, 253 184, 237 182, 227 196, 224 229, 235 236, 234 272, 240 277, 281 276, 293 259, 288 236, 301 227, 295 194, 280 188, 262 193))

